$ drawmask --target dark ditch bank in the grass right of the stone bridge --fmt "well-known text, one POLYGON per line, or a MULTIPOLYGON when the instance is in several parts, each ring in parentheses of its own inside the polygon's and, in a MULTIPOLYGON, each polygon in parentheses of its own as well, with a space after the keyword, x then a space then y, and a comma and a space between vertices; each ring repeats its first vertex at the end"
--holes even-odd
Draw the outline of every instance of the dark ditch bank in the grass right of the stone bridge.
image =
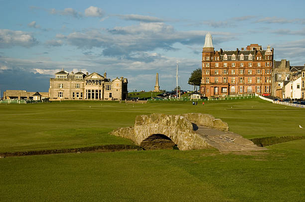
POLYGON ((251 139, 251 141, 260 146, 260 147, 266 147, 269 145, 275 145, 283 142, 289 142, 293 140, 302 140, 305 139, 305 136, 273 136, 273 137, 264 137, 264 138, 254 138, 251 139))

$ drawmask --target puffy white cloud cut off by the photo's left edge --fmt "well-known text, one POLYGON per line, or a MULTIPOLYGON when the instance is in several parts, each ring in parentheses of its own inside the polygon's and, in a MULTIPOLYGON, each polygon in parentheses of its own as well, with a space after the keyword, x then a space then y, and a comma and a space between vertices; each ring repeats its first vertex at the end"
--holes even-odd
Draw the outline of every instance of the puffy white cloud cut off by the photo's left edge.
POLYGON ((31 33, 0 29, 0 48, 9 48, 12 46, 30 47, 37 43, 37 39, 31 33))

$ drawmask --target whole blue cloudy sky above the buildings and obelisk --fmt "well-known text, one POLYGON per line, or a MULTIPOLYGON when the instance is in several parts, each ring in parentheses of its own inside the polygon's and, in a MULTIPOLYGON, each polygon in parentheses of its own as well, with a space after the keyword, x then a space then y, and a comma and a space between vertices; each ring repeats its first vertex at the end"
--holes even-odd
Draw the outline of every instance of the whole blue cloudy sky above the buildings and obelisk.
POLYGON ((201 67, 205 34, 215 50, 251 43, 276 61, 305 63, 304 0, 0 0, 0 91, 47 92, 62 68, 128 79, 128 90, 178 85, 201 67))

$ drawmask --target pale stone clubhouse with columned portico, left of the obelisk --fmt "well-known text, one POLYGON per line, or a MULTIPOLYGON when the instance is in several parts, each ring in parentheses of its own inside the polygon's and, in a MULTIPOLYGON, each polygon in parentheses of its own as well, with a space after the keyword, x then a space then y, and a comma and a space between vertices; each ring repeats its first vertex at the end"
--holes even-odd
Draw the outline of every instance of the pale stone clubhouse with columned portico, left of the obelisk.
POLYGON ((65 70, 50 78, 50 100, 125 100, 128 97, 127 78, 110 80, 96 72, 84 74, 65 70))

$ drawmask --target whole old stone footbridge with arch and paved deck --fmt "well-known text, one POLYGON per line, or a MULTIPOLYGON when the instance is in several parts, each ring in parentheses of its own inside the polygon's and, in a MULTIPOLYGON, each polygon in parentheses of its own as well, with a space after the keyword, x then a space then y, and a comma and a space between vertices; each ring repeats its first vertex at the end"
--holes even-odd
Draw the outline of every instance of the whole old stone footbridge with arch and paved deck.
POLYGON ((216 148, 220 151, 261 150, 250 140, 229 132, 227 123, 209 114, 151 114, 136 117, 133 127, 118 128, 113 135, 133 140, 144 149, 179 150, 216 148), (215 135, 216 134, 216 135, 215 135))

